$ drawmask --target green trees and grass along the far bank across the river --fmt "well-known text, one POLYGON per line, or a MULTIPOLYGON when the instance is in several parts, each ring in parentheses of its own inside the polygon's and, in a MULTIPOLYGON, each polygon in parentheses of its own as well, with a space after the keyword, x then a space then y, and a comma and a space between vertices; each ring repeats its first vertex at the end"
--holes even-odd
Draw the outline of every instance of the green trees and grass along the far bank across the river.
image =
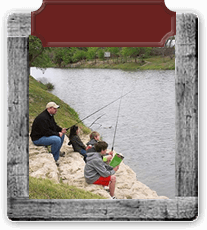
POLYGON ((174 52, 174 47, 167 46, 42 47, 37 37, 29 36, 29 65, 40 68, 174 69, 174 52), (110 52, 109 58, 105 52, 110 52))

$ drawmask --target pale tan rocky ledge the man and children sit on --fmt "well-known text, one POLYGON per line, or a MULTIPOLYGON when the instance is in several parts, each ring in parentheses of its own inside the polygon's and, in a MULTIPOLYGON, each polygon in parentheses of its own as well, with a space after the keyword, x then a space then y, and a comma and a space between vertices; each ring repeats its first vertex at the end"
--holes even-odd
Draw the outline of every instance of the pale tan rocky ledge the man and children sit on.
MULTIPOLYGON (((84 143, 88 142, 87 136, 81 137, 84 143)), ((55 183, 66 183, 77 188, 110 198, 109 193, 100 185, 89 185, 84 179, 83 157, 74 152, 71 146, 67 145, 68 138, 65 137, 62 152, 65 157, 60 157, 60 164, 57 167, 52 154, 47 148, 35 146, 29 140, 29 174, 32 177, 47 178, 55 183)), ((168 199, 166 196, 158 196, 148 186, 136 179, 136 173, 122 162, 116 172, 115 196, 118 199, 168 199)))

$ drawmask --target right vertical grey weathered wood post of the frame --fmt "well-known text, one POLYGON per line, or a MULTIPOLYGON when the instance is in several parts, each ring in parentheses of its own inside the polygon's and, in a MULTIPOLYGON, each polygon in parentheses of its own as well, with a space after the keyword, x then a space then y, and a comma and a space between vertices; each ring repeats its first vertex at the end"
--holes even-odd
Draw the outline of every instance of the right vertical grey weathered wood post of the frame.
POLYGON ((176 196, 198 194, 196 16, 176 14, 176 196))

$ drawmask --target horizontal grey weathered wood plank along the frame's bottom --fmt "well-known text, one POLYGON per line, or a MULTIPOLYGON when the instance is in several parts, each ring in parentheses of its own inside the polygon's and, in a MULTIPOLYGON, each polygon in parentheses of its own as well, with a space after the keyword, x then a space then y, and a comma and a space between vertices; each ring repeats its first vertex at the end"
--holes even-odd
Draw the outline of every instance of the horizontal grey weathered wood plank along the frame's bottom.
POLYGON ((44 220, 166 220, 193 219, 196 197, 173 200, 29 200, 8 201, 13 218, 44 220), (19 211, 21 210, 21 212, 19 211))

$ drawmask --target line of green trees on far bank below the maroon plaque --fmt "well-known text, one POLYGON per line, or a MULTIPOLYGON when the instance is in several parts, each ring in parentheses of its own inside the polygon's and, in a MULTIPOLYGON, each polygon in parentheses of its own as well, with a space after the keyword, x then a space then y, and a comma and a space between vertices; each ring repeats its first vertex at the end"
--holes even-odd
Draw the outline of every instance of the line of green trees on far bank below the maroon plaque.
MULTIPOLYGON (((173 37, 166 41, 172 41, 173 37), (171 40, 170 40, 171 39, 171 40)), ((110 59, 114 63, 124 63, 129 59, 134 62, 143 62, 149 56, 174 55, 174 47, 43 47, 41 40, 35 36, 29 36, 29 66, 35 67, 65 67, 68 64, 94 61, 97 59, 108 61, 104 53, 110 52, 110 59)))

